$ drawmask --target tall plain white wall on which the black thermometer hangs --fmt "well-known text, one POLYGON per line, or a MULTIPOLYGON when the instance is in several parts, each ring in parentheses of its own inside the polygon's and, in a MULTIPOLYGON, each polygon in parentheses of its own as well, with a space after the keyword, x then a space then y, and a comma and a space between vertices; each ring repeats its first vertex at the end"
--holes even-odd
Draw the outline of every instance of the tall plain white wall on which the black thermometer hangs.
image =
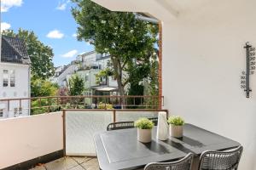
POLYGON ((240 169, 256 169, 256 75, 240 88, 245 42, 256 47, 256 1, 207 1, 163 23, 165 108, 187 122, 239 141, 240 169))

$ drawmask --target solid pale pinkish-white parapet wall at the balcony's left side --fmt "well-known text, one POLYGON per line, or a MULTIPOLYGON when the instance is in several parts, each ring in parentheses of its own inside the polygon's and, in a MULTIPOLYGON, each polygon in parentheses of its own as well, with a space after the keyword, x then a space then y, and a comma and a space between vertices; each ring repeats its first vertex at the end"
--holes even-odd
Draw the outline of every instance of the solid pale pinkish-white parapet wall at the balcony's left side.
POLYGON ((62 113, 0 120, 0 169, 63 149, 62 113))

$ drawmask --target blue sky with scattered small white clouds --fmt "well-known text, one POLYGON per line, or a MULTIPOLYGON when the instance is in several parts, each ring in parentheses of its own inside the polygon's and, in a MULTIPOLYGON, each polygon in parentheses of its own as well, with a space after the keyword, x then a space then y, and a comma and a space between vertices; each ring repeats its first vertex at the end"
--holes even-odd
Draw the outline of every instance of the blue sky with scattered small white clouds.
POLYGON ((70 0, 1 0, 1 31, 34 31, 39 41, 53 48, 55 66, 67 65, 78 54, 94 49, 77 40, 72 5, 70 0))

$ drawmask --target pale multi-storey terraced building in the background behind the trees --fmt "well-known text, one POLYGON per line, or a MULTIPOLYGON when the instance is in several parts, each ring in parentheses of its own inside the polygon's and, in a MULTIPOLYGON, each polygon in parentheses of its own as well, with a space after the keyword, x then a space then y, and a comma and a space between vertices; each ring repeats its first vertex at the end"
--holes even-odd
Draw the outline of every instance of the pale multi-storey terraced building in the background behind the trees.
POLYGON ((62 65, 55 68, 55 76, 49 81, 57 83, 61 88, 68 87, 68 79, 77 73, 84 79, 85 95, 110 94, 117 91, 117 82, 114 77, 102 78, 96 81, 96 74, 110 66, 110 56, 108 54, 97 54, 90 51, 79 54, 69 65, 62 65))

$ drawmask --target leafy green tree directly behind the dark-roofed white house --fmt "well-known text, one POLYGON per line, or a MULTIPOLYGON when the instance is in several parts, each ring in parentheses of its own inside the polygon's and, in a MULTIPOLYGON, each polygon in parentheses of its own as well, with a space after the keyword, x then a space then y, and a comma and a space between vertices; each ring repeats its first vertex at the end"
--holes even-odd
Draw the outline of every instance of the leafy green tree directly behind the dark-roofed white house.
POLYGON ((31 69, 33 77, 47 79, 54 75, 53 51, 49 46, 38 40, 33 31, 19 29, 17 33, 13 30, 3 31, 3 35, 19 37, 26 42, 27 53, 32 61, 31 69))

